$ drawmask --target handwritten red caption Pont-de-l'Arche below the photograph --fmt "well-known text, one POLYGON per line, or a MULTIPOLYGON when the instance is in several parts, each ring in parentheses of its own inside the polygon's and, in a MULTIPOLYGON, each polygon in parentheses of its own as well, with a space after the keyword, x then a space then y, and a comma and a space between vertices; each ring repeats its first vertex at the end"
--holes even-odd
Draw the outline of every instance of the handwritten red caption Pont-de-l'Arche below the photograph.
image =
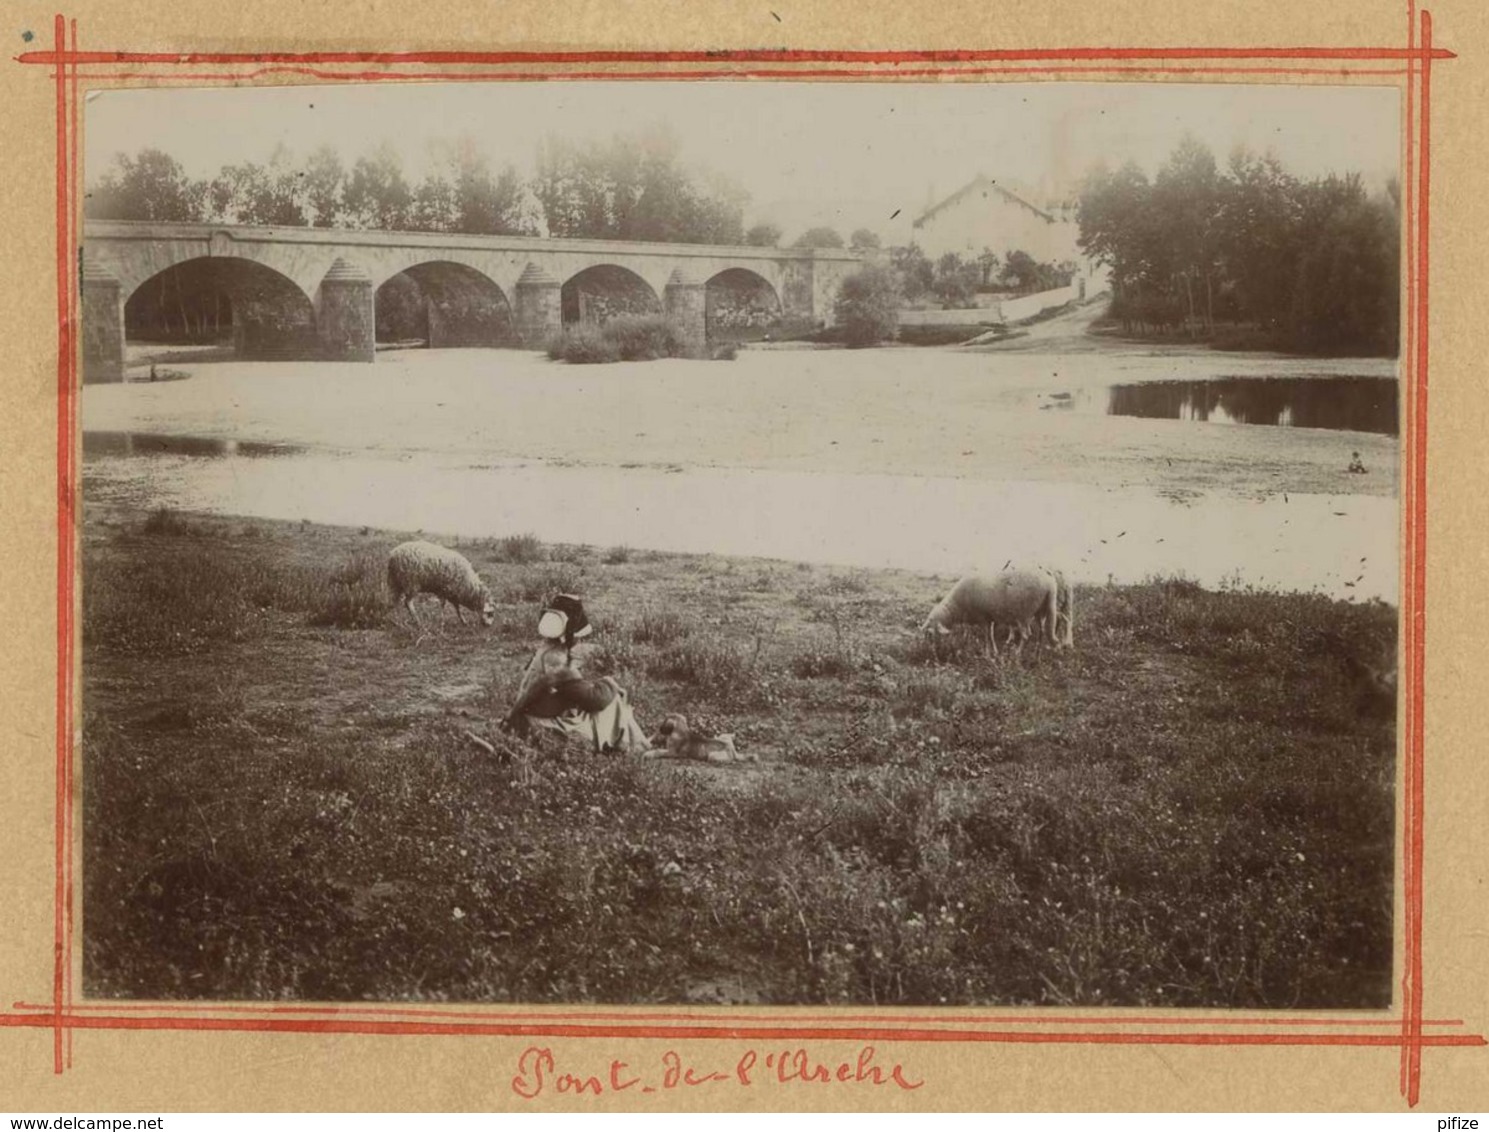
POLYGON ((657 1065, 633 1066, 615 1059, 602 1074, 584 1074, 561 1069, 549 1047, 529 1046, 517 1059, 512 1092, 533 1101, 543 1095, 658 1093, 725 1084, 744 1089, 762 1084, 859 1084, 905 1090, 925 1084, 910 1080, 899 1062, 886 1068, 877 1065, 874 1058, 873 1046, 864 1046, 853 1061, 823 1061, 803 1049, 747 1049, 733 1065, 721 1069, 689 1065, 675 1050, 667 1050, 657 1065))

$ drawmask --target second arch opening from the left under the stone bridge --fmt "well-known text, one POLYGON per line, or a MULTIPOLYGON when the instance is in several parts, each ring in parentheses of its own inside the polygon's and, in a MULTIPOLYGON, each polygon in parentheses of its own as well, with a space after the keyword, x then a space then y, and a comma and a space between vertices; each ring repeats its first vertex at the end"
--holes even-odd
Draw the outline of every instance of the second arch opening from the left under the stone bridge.
POLYGON ((490 276, 427 259, 389 276, 374 295, 377 341, 426 347, 514 346, 512 304, 490 276))

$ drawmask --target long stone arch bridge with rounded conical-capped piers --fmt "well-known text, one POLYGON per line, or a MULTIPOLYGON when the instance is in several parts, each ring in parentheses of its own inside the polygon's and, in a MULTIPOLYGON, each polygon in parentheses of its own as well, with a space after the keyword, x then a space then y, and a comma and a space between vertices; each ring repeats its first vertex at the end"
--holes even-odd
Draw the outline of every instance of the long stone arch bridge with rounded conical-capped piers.
POLYGON ((168 308, 167 282, 183 310, 183 295, 226 296, 240 356, 371 362, 395 279, 418 284, 430 346, 541 349, 567 323, 621 311, 664 311, 698 343, 715 319, 829 323, 861 264, 841 249, 88 220, 83 380, 124 378, 127 307, 140 296, 168 308), (722 289, 733 299, 715 311, 722 289))

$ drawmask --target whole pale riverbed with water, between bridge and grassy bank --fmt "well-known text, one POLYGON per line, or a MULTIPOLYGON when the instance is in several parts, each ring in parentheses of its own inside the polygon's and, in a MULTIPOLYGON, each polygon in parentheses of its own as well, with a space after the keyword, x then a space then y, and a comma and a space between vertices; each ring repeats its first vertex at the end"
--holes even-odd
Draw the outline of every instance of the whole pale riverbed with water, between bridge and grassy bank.
POLYGON ((1395 602, 1394 377, 1391 359, 1088 337, 731 363, 204 363, 83 390, 85 492, 433 536, 944 575, 1033 559, 1087 582, 1395 602), (1234 420, 1261 423, 1217 424, 1234 420), (1345 472, 1355 450, 1368 475, 1345 472))

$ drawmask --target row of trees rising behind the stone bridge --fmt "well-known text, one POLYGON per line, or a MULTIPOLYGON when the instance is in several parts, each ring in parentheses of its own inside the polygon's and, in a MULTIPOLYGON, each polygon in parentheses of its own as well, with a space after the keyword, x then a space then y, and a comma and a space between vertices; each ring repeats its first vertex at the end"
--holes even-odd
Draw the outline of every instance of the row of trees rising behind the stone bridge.
MULTIPOLYGON (((119 153, 88 189, 83 212, 100 220, 241 223, 474 235, 777 246, 777 225, 744 229, 747 195, 722 177, 689 170, 663 128, 609 142, 549 139, 536 171, 494 168, 469 137, 436 143, 411 180, 390 143, 350 167, 332 146, 296 156, 278 146, 268 161, 225 165, 194 179, 159 149, 119 153)), ((861 229, 853 247, 877 246, 861 229)), ((831 228, 810 228, 797 247, 843 247, 831 228)))

